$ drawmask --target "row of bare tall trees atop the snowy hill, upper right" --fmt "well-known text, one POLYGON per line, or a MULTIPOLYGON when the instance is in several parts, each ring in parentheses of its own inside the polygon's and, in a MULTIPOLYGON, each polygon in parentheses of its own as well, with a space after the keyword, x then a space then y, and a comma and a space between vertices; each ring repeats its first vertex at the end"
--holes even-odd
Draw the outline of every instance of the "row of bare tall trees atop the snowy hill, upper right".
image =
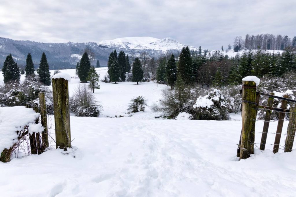
POLYGON ((263 50, 285 50, 290 47, 296 49, 296 36, 289 38, 287 35, 273 35, 273 34, 258 34, 258 35, 245 35, 237 36, 234 38, 233 48, 234 51, 243 49, 260 49, 263 50))

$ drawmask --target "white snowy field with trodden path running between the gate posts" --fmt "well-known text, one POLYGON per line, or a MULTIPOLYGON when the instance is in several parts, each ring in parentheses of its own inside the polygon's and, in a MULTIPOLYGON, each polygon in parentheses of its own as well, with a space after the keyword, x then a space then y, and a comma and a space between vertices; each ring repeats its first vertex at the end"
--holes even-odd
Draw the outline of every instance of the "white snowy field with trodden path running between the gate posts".
MULTIPOLYGON (((103 78, 107 68, 97 72, 103 78)), ((70 95, 78 85, 79 79, 71 80, 70 95)), ((129 100, 140 95, 151 105, 167 87, 100 85, 95 95, 102 117, 71 116, 70 154, 51 149, 0 163, 0 196, 295 196, 295 151, 273 154, 266 146, 265 152, 256 149, 238 161, 239 115, 232 121, 160 120, 147 107, 129 117, 129 100), (119 115, 126 117, 115 118, 119 115)), ((276 125, 271 122, 269 132, 275 133, 276 125)), ((256 131, 262 128, 263 122, 256 122, 256 131)), ((256 133, 255 143, 260 139, 256 133)), ((268 134, 267 143, 274 143, 274 134, 268 134)))

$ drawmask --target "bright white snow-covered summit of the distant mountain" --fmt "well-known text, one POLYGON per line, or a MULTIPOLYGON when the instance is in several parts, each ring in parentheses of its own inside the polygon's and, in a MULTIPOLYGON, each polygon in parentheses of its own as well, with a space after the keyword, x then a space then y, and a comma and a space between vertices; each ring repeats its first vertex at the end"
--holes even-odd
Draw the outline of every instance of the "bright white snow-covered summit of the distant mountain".
MULTIPOLYGON (((155 50, 155 51, 169 51, 181 50, 186 45, 179 43, 173 38, 152 38, 152 37, 127 37, 116 38, 114 40, 103 40, 99 42, 100 45, 120 49, 134 49, 134 50, 155 50)), ((191 49, 195 47, 190 47, 191 49)))

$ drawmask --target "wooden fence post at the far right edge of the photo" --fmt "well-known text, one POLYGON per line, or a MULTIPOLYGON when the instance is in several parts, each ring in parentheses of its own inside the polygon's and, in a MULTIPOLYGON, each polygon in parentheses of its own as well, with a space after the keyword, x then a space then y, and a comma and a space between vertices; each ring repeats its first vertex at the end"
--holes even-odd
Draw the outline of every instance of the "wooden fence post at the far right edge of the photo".
POLYGON ((291 152, 296 131, 296 107, 290 108, 290 117, 284 152, 291 152))

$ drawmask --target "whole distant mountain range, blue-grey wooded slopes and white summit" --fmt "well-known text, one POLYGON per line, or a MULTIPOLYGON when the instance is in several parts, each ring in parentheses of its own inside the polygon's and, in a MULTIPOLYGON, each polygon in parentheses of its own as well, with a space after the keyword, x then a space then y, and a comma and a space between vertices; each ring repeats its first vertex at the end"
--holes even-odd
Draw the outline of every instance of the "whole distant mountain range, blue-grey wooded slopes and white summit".
MULTIPOLYGON (((31 53, 37 67, 42 52, 45 52, 51 69, 66 69, 75 68, 85 48, 90 48, 94 52, 93 65, 98 59, 101 66, 107 66, 108 57, 113 50, 124 51, 130 56, 139 56, 146 52, 150 56, 158 57, 167 52, 179 53, 184 46, 186 45, 172 38, 158 39, 152 37, 117 38, 103 40, 99 43, 41 43, 0 37, 0 67, 3 65, 5 57, 10 53, 20 67, 26 64, 25 60, 28 53, 31 53)), ((192 48, 197 49, 190 47, 190 49, 192 48)))

